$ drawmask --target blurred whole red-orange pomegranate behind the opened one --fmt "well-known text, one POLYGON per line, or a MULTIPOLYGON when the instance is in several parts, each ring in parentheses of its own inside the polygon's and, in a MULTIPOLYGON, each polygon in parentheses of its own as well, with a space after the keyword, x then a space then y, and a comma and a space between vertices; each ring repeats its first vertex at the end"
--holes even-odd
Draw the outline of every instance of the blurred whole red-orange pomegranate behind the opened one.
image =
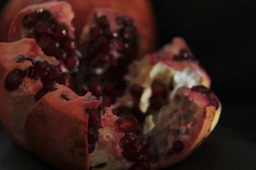
MULTIPOLYGON (((44 3, 51 0, 9 0, 0 17, 0 42, 8 40, 8 32, 15 15, 23 8, 33 4, 44 3)), ((55 1, 55 0, 52 0, 55 1)), ((88 22, 88 15, 94 8, 114 8, 131 15, 137 22, 137 29, 142 42, 141 54, 155 48, 154 18, 148 0, 66 0, 73 8, 73 20, 78 38, 82 28, 88 22)))

